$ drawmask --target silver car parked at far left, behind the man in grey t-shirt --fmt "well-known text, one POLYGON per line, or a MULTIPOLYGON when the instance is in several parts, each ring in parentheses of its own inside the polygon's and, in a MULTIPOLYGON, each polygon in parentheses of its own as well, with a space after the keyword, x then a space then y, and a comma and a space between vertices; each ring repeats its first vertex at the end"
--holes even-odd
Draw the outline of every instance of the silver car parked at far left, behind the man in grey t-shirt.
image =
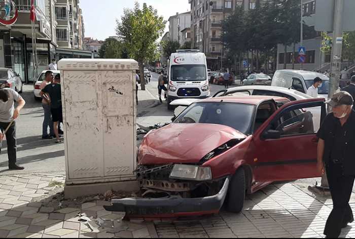
POLYGON ((0 88, 11 88, 22 93, 23 82, 20 75, 11 68, 0 68, 0 88))

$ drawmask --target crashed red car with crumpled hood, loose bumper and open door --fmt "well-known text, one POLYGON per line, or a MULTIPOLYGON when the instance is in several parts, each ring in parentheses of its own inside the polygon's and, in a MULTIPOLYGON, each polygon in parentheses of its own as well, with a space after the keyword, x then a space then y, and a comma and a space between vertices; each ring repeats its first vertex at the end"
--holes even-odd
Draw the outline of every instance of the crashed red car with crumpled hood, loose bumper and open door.
MULTIPOLYGON (((200 100, 139 147, 141 198, 112 200, 108 211, 164 219, 243 208, 245 193, 273 181, 319 177, 317 138, 308 108, 326 115, 324 99, 271 96, 200 100)), ((321 119, 318 119, 321 121, 321 119)))

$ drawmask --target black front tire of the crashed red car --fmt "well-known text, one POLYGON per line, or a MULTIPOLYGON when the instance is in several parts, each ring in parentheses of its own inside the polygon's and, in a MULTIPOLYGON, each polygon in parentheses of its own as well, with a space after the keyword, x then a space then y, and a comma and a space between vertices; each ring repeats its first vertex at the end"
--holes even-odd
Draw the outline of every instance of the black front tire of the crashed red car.
POLYGON ((245 200, 245 172, 239 168, 231 179, 227 195, 227 211, 240 213, 243 210, 245 200))

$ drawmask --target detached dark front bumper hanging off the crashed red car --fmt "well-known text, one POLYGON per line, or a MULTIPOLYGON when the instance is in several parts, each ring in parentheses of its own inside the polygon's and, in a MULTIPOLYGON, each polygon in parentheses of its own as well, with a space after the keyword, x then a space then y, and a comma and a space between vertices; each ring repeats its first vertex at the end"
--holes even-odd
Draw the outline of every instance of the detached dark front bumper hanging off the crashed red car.
POLYGON ((129 218, 176 218, 218 213, 227 195, 230 178, 226 178, 218 194, 200 198, 123 198, 112 200, 104 209, 125 212, 129 218))

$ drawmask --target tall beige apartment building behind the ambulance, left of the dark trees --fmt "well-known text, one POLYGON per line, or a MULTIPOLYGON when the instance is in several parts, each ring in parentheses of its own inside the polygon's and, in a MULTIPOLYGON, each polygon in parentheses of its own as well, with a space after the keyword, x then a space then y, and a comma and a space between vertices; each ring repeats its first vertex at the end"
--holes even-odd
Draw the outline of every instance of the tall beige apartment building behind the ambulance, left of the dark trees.
MULTIPOLYGON (((270 0, 260 0, 268 2, 270 0)), ((255 9, 257 0, 189 0, 191 4, 191 42, 192 47, 204 52, 208 67, 221 69, 226 60, 222 44, 222 22, 237 7, 245 11, 255 9)))

